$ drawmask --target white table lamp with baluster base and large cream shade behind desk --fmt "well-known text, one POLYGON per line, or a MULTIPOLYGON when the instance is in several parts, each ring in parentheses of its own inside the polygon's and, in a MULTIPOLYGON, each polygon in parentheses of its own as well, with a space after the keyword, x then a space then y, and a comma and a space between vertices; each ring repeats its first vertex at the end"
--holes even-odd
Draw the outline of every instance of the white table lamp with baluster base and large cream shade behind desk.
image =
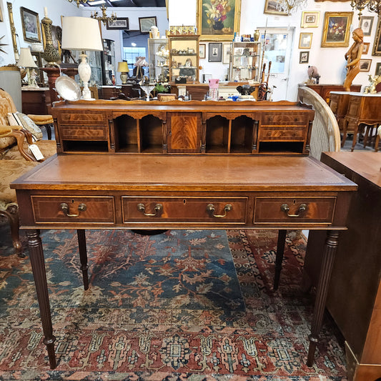
POLYGON ((90 17, 63 17, 61 49, 81 51, 81 54, 79 54, 81 62, 78 65, 78 74, 84 83, 82 99, 93 99, 89 90, 91 67, 87 62, 85 51, 103 50, 99 21, 90 17))

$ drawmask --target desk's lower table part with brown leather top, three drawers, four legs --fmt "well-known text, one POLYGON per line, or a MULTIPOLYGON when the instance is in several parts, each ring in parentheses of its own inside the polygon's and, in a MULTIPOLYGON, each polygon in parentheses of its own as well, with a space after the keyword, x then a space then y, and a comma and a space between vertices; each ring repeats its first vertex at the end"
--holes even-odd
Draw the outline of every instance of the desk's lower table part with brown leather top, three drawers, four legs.
POLYGON ((296 156, 66 154, 11 187, 29 238, 51 368, 55 337, 39 229, 77 229, 85 289, 84 229, 279 229, 276 280, 286 229, 327 230, 309 336, 312 366, 339 232, 357 189, 324 164, 296 156))

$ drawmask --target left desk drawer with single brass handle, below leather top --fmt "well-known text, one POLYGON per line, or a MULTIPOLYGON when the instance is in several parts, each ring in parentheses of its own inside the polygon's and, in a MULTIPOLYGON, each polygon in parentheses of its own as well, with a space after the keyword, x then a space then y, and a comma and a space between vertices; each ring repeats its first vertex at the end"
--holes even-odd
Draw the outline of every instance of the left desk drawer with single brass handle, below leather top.
POLYGON ((31 203, 36 223, 115 223, 114 197, 31 196, 31 203))

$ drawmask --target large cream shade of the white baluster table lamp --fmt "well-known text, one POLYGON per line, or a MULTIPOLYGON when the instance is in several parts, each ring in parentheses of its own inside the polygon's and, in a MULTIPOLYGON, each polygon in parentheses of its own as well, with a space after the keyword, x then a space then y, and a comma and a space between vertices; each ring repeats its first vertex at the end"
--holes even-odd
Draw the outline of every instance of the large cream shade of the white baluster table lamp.
POLYGON ((98 20, 90 17, 62 17, 61 49, 102 51, 98 20))

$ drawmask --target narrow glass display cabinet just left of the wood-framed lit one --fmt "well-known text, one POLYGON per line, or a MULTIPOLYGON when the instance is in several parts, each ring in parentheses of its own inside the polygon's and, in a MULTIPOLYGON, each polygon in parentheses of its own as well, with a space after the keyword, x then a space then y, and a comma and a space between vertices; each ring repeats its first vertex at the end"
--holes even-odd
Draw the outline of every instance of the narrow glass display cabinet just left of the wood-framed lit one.
POLYGON ((168 39, 148 39, 149 79, 167 82, 169 79, 168 39))

